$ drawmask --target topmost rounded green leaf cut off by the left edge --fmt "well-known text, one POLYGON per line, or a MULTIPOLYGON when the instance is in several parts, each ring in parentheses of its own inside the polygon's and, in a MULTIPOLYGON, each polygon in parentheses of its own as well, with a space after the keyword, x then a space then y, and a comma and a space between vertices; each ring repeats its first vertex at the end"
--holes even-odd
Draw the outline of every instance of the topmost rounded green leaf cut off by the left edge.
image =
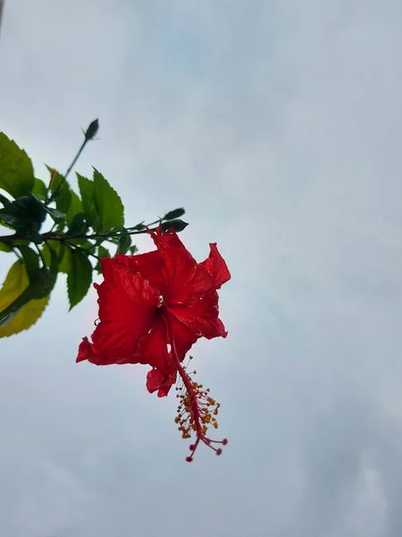
POLYGON ((32 163, 15 141, 0 132, 0 188, 20 198, 32 191, 35 182, 32 163))

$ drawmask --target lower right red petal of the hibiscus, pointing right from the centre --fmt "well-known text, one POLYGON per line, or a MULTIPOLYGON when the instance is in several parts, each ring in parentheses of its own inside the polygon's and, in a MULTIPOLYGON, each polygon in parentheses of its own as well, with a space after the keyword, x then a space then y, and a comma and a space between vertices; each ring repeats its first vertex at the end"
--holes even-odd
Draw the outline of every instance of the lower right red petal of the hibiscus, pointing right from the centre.
POLYGON ((216 291, 205 293, 204 297, 190 307, 174 307, 169 311, 197 337, 226 337, 222 320, 218 319, 218 294, 216 291))

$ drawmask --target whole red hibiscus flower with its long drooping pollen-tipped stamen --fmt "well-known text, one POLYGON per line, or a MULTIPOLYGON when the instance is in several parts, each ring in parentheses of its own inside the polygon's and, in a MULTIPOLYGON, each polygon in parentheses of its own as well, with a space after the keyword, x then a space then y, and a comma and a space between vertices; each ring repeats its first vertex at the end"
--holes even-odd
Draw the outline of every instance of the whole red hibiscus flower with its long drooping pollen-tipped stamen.
MULTIPOLYGON (((180 399, 176 422, 183 438, 197 435, 190 446, 192 456, 200 441, 220 448, 207 439, 208 425, 217 427, 219 404, 209 396, 182 365, 199 337, 226 337, 219 319, 218 294, 230 272, 216 243, 209 257, 197 263, 173 231, 148 231, 155 251, 138 255, 116 255, 101 260, 104 282, 94 284, 98 293, 99 322, 92 343, 84 337, 77 362, 96 365, 147 363, 147 389, 167 396, 178 374, 180 399)), ((225 445, 227 440, 221 442, 225 445)))

